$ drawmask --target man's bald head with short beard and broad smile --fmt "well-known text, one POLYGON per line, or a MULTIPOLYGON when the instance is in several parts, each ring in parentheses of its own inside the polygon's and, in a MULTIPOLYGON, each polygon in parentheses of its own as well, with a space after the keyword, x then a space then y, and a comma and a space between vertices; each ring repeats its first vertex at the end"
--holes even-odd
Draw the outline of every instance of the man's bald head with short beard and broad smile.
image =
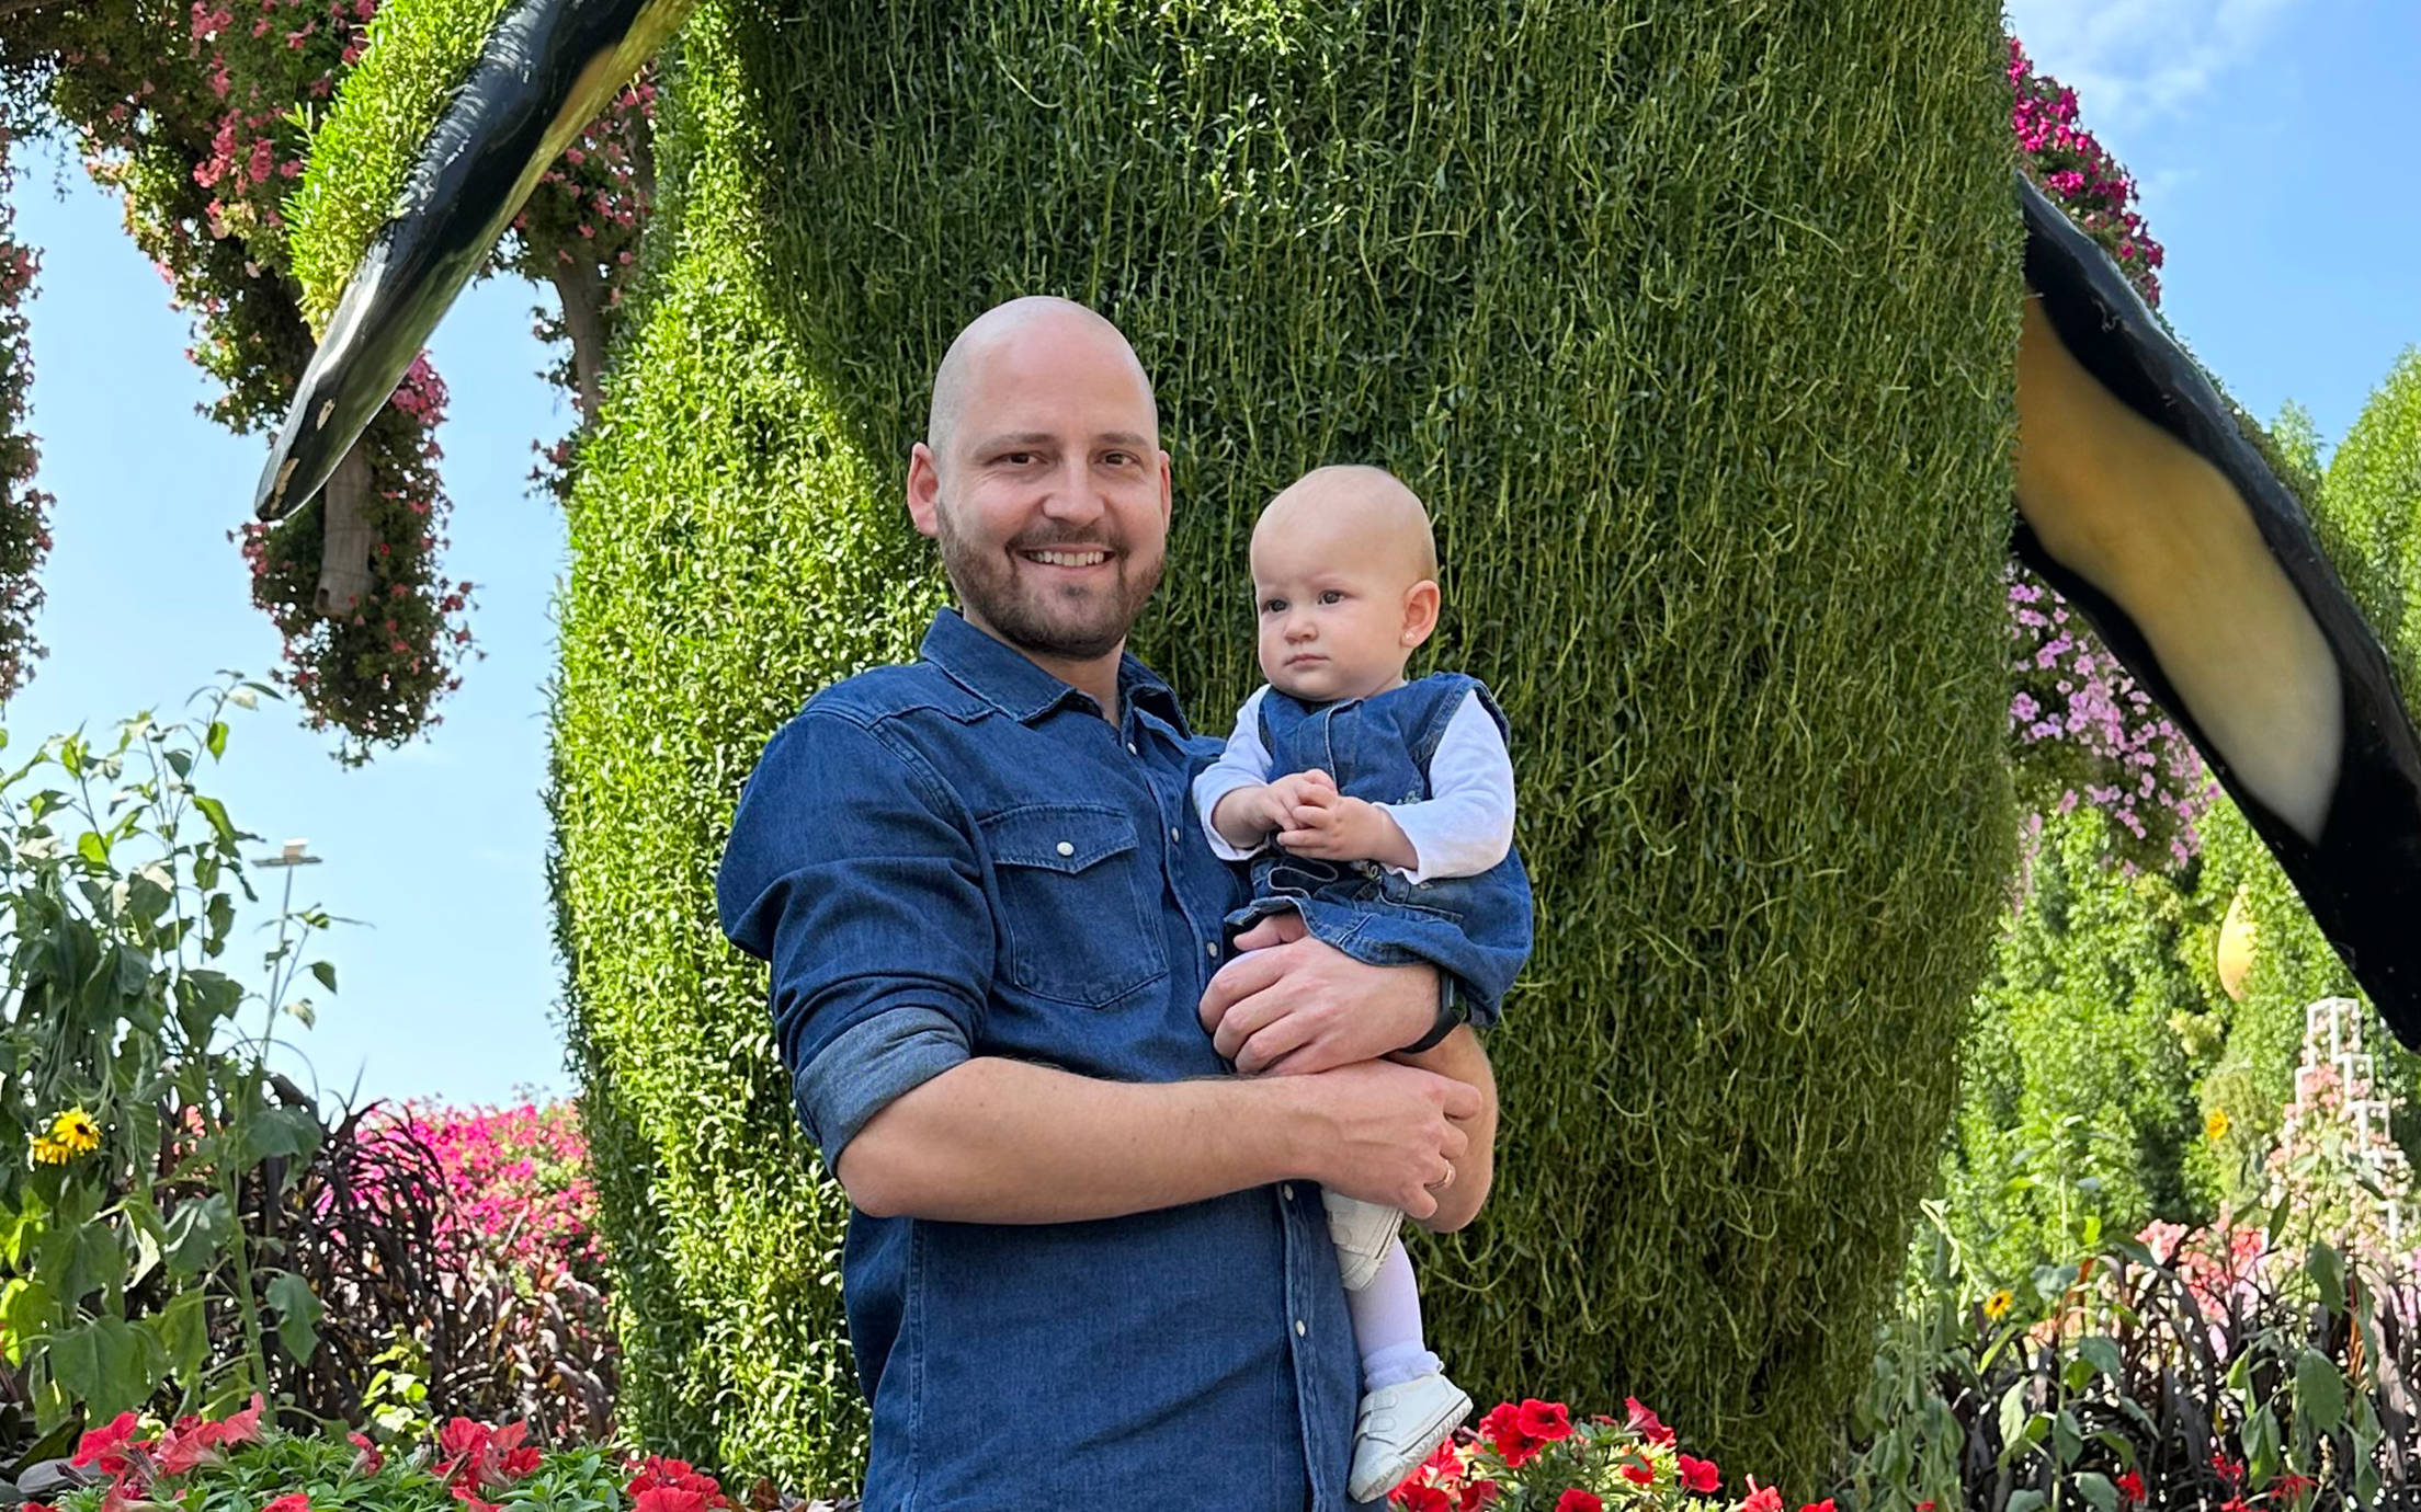
POLYGON ((908 508, 942 542, 966 617, 1053 660, 1116 653, 1160 583, 1169 457, 1135 353, 1099 314, 985 314, 935 382, 908 508))

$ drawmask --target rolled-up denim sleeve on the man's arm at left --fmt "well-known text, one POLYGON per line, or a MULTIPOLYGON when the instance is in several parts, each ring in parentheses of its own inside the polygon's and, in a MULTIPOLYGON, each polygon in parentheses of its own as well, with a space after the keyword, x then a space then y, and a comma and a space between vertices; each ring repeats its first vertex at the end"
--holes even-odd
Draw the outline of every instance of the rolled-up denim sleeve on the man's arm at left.
POLYGON ((813 706, 784 726, 741 793, 714 905, 772 968, 775 1048, 826 1166, 891 1098, 968 1060, 993 912, 915 752, 813 706))

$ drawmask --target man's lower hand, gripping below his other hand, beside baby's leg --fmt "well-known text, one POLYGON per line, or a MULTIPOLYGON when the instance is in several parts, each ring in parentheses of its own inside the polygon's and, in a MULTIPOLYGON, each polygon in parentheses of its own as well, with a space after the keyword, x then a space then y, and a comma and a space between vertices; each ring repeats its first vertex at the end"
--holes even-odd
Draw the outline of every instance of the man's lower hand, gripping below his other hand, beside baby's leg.
POLYGON ((1462 1125, 1482 1110, 1477 1086, 1385 1060, 1286 1086, 1310 1118, 1305 1176, 1414 1219, 1438 1212, 1438 1193, 1472 1147, 1462 1125))

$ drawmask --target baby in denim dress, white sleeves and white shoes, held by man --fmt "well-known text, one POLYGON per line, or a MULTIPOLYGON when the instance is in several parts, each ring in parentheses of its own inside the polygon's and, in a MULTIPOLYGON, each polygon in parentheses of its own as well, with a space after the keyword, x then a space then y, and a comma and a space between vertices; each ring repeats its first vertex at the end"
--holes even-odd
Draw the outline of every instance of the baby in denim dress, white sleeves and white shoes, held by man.
MULTIPOLYGON (((1530 956, 1530 878, 1496 702, 1460 673, 1404 680, 1438 624, 1428 513, 1378 467, 1319 467, 1261 510, 1252 588, 1269 685, 1194 779, 1210 847, 1252 859, 1254 900, 1227 924, 1293 912, 1358 960, 1426 960, 1491 1023, 1530 956)), ((1348 1490, 1373 1500, 1472 1398, 1421 1340, 1404 1214, 1324 1200, 1363 1362, 1348 1490)))

